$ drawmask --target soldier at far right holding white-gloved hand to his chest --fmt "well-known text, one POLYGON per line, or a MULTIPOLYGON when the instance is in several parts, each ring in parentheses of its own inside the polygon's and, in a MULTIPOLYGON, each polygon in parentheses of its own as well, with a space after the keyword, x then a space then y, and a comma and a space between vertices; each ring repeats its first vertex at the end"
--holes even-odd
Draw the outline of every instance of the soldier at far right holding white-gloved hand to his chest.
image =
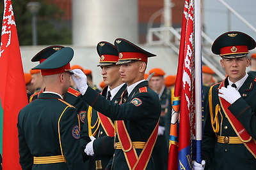
POLYGON ((238 31, 221 34, 212 45, 228 76, 209 90, 202 141, 205 169, 256 169, 256 83, 246 73, 253 48, 255 40, 238 31))

